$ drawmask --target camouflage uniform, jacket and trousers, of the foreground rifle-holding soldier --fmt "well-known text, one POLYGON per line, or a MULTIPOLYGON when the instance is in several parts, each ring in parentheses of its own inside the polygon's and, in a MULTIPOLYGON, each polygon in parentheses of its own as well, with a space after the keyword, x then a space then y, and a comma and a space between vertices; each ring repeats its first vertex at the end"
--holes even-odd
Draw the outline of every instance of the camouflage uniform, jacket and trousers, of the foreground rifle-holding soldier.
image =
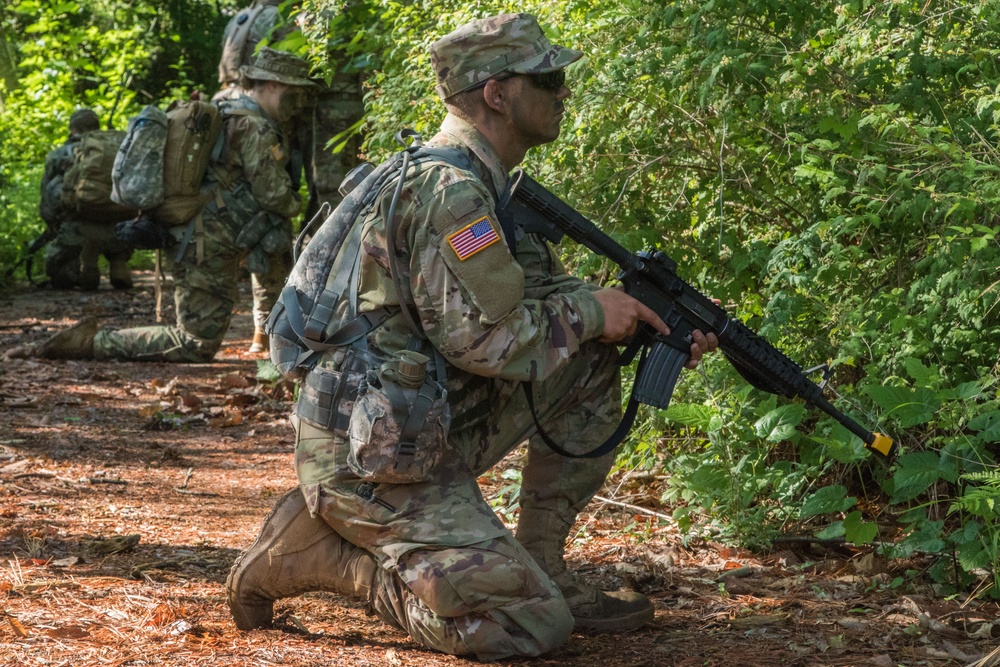
MULTIPOLYGON (((527 21, 497 20, 509 27, 512 18, 515 28, 527 21)), ((544 37, 531 48, 522 57, 550 71, 579 57, 544 37)), ((439 66, 438 79, 450 95, 504 67, 512 66, 505 60, 496 71, 454 82, 439 66)), ((603 483, 613 454, 568 459, 553 452, 538 438, 521 383, 531 383, 535 417, 548 434, 571 451, 590 451, 620 420, 616 353, 596 340, 604 315, 595 287, 569 276, 540 237, 525 235, 514 253, 508 248, 495 211, 508 174, 486 138, 449 115, 429 144, 459 149, 472 165, 412 168, 393 222, 410 292, 403 302, 412 300, 427 339, 447 362, 448 452, 429 481, 372 488, 347 464, 345 433, 295 416, 296 470, 309 510, 381 566, 372 600, 383 619, 447 653, 484 660, 538 655, 567 639, 573 600, 553 580, 558 573, 548 571, 544 554, 522 546, 522 533, 554 530, 564 537, 603 483), (474 225, 480 242, 470 251, 456 239, 474 225), (476 480, 525 440, 515 539, 476 480)), ((353 232, 364 235, 360 312, 401 301, 389 274, 383 218, 391 194, 353 232)), ((409 337, 397 313, 369 334, 368 348, 389 358, 409 337)), ((342 351, 327 353, 320 366, 338 370, 343 359, 342 351)), ((561 554, 560 545, 560 563, 561 554)))

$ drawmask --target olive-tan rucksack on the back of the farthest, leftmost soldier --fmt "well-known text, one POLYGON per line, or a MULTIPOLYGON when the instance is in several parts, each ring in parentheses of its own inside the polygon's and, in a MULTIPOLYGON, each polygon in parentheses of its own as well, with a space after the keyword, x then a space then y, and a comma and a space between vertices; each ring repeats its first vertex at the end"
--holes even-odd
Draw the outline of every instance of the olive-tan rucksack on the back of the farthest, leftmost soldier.
POLYGON ((65 210, 88 222, 120 222, 136 210, 111 199, 115 156, 125 138, 118 130, 94 130, 73 146, 73 163, 62 183, 65 210))

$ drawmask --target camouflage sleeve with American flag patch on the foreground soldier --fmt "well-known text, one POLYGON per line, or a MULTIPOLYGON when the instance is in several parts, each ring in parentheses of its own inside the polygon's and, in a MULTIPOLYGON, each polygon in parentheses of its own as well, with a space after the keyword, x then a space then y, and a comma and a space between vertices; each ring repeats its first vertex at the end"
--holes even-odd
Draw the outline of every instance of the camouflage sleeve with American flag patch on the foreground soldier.
POLYGON ((469 373, 544 379, 600 335, 603 311, 576 279, 526 293, 526 280, 537 278, 526 278, 511 255, 492 198, 482 183, 455 174, 431 186, 426 200, 418 193, 411 209, 410 282, 425 332, 469 373))

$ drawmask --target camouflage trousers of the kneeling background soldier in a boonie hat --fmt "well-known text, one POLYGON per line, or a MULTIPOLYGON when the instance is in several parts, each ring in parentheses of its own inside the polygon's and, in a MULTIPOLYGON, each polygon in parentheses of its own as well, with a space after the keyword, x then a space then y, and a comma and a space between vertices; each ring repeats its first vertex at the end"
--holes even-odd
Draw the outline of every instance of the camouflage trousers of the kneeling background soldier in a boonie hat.
MULTIPOLYGON (((163 251, 174 281, 177 324, 103 329, 94 339, 97 358, 203 363, 215 357, 236 305, 244 253, 233 245, 233 234, 225 223, 208 211, 203 220, 204 260, 200 264, 193 239, 179 262, 175 260, 177 246, 163 251)), ((171 231, 179 239, 184 228, 171 231)))

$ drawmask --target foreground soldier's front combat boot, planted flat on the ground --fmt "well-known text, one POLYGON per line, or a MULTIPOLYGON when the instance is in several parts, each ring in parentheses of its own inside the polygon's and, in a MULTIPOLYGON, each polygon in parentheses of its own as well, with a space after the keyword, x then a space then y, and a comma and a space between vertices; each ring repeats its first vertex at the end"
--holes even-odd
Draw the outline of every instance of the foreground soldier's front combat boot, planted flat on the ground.
POLYGON ((573 523, 557 513, 521 508, 517 541, 562 591, 573 613, 574 630, 625 632, 653 620, 653 603, 635 591, 598 590, 566 568, 563 552, 573 523))

